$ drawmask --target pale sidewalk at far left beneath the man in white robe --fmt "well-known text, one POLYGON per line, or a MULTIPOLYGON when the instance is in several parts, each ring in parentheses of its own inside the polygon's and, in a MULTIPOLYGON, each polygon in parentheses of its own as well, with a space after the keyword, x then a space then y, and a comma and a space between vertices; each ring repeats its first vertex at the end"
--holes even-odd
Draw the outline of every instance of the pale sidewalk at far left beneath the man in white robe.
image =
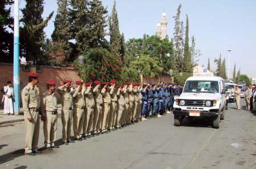
MULTIPOLYGON (((61 104, 58 104, 58 117, 61 116, 61 104)), ((3 114, 3 109, 0 109, 0 125, 2 124, 8 124, 8 123, 15 123, 15 122, 23 122, 24 116, 23 116, 23 109, 20 108, 20 114, 22 115, 7 115, 3 114)))

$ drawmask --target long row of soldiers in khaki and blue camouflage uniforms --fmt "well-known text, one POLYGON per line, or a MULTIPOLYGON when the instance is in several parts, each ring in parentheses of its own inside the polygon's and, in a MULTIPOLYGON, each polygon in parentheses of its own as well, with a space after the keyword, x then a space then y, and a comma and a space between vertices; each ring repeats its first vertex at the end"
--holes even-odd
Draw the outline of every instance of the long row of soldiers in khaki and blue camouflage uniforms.
MULTIPOLYGON (((47 81, 47 91, 40 94, 37 73, 29 74, 29 83, 22 90, 22 104, 26 125, 25 154, 34 156, 38 150, 39 115, 43 120, 43 133, 47 150, 59 148, 54 142, 57 137, 57 97, 56 82, 47 81)), ((82 141, 91 136, 107 134, 111 130, 125 127, 139 120, 147 120, 152 115, 162 116, 174 102, 174 95, 180 94, 180 88, 171 83, 143 84, 116 81, 94 81, 93 83, 69 80, 57 88, 62 104, 62 141, 68 145, 71 140, 71 128, 74 139, 82 141)))

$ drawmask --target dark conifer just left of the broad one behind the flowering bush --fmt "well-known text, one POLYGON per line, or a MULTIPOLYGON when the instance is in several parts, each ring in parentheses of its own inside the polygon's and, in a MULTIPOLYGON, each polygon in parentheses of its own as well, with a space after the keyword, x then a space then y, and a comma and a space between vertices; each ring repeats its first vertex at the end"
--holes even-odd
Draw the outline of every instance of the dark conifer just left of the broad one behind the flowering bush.
POLYGON ((69 19, 71 23, 71 37, 75 39, 75 50, 78 54, 89 49, 89 1, 70 0, 69 19))

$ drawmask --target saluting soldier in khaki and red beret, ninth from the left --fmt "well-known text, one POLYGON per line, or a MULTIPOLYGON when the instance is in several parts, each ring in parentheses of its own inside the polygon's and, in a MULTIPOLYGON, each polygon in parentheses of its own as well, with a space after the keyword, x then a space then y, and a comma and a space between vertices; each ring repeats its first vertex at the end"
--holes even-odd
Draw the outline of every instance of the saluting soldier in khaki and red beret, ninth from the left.
POLYGON ((117 90, 117 98, 118 98, 118 106, 117 106, 117 110, 118 110, 118 115, 117 115, 117 121, 115 123, 115 127, 116 128, 120 128, 121 127, 121 120, 123 118, 123 112, 125 111, 125 98, 122 95, 123 93, 123 86, 118 86, 118 90, 117 90))

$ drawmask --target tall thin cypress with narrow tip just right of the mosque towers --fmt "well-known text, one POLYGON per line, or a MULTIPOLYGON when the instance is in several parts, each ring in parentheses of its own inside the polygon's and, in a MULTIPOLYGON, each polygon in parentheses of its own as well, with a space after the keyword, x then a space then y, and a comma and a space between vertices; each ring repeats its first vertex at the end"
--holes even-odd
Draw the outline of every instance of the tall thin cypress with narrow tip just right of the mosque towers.
POLYGON ((174 69, 177 70, 179 73, 183 71, 183 37, 182 37, 182 30, 181 21, 180 21, 180 14, 181 14, 181 5, 178 6, 177 13, 173 17, 175 21, 174 26, 174 69))

